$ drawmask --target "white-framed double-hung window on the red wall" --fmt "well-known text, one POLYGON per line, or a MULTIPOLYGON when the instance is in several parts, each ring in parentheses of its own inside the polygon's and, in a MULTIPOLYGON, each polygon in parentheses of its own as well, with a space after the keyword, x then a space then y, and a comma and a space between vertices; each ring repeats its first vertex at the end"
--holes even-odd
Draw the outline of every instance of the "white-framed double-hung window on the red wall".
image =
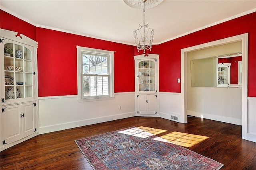
POLYGON ((114 97, 114 52, 77 46, 78 98, 114 97))

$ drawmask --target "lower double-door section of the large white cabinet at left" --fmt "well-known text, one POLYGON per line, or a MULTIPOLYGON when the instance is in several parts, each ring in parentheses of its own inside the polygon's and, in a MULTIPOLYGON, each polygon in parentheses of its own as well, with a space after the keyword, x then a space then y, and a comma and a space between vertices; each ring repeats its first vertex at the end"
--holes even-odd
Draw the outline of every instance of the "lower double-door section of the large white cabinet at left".
POLYGON ((8 145, 37 131, 35 104, 10 105, 2 108, 2 145, 8 145))

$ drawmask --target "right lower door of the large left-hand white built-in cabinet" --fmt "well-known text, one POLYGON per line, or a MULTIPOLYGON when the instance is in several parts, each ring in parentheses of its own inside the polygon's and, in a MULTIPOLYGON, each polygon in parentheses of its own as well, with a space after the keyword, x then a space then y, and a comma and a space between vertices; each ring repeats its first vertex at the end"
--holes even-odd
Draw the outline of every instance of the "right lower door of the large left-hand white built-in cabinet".
POLYGON ((35 132, 36 119, 35 119, 35 107, 33 103, 22 104, 22 113, 24 117, 22 120, 22 137, 27 137, 35 132))

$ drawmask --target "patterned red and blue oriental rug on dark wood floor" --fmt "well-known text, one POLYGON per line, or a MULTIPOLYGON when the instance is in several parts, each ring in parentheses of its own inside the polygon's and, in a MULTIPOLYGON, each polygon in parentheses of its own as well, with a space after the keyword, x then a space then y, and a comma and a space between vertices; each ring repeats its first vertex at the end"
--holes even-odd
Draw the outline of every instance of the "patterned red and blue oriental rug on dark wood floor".
POLYGON ((218 170, 223 166, 137 127, 75 142, 94 170, 218 170))

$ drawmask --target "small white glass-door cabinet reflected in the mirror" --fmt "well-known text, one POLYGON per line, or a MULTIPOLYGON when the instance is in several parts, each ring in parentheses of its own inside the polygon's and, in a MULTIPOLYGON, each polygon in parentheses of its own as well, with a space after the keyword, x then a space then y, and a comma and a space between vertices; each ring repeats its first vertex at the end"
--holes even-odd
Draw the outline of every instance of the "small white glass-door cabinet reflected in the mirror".
POLYGON ((230 87, 230 63, 219 63, 217 69, 217 87, 230 87))

